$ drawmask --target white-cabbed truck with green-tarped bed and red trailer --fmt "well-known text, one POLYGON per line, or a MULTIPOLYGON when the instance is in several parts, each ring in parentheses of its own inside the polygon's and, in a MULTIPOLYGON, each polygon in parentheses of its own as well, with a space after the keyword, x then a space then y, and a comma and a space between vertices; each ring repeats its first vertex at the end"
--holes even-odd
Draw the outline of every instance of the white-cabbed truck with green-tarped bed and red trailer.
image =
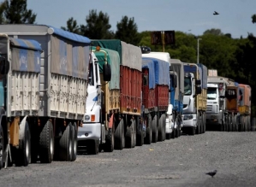
POLYGON ((141 50, 119 39, 92 40, 92 46, 100 48, 97 52, 94 51, 96 68, 99 65, 97 61, 109 61, 112 69, 111 80, 101 81, 99 76, 102 73, 99 73, 99 76, 96 74, 98 83, 95 82, 94 88, 88 92, 88 97, 92 100, 95 93, 98 93, 102 102, 96 99, 93 104, 91 101, 88 109, 86 108, 85 119, 78 129, 79 147, 87 146, 89 154, 98 154, 98 150, 111 152, 114 149, 141 146, 145 136, 140 118, 141 50), (108 136, 104 138, 104 134, 108 136))

